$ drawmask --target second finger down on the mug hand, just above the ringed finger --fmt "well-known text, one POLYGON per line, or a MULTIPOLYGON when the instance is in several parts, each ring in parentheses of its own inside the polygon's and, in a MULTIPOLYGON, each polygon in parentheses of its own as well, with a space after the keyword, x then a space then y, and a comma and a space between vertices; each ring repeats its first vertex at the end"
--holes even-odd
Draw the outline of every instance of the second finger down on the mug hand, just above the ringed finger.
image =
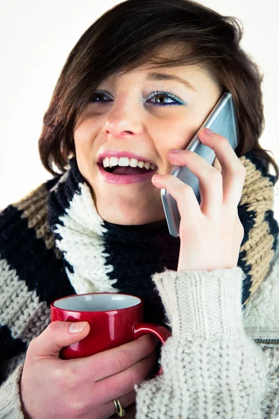
POLYGON ((94 393, 99 395, 100 403, 133 391, 135 384, 140 384, 144 381, 156 364, 156 359, 156 351, 153 351, 153 353, 136 362, 132 367, 98 381, 94 387, 94 393))

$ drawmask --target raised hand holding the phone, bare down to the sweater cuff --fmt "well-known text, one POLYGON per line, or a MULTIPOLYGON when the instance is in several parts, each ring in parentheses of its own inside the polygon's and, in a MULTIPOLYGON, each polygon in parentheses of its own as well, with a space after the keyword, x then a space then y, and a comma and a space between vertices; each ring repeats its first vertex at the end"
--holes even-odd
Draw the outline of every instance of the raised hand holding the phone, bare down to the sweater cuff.
MULTIPOLYGON (((168 152, 169 162, 187 167, 199 179, 201 202, 193 188, 172 175, 152 178, 176 200, 180 249, 177 272, 230 269, 237 266, 244 228, 238 214, 246 168, 229 141, 218 133, 199 131, 202 145, 214 149, 221 171, 195 152, 168 152)), ((156 177, 156 175, 154 175, 156 177)))

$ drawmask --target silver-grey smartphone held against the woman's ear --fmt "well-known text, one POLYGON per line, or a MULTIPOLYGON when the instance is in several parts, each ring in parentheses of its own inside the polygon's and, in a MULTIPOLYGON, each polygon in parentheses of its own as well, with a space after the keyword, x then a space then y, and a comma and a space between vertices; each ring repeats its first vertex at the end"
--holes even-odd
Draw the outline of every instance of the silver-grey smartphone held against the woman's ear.
MULTIPOLYGON (((199 131, 202 128, 210 128, 215 133, 227 138, 229 144, 235 150, 239 144, 239 124, 237 121, 236 106, 234 104, 232 94, 225 92, 213 110, 206 117, 204 123, 195 134, 193 140, 186 148, 190 152, 195 152, 203 157, 212 166, 216 159, 216 154, 213 149, 202 144, 199 140, 199 131)), ((197 176, 185 166, 174 166, 170 175, 174 175, 193 188, 195 196, 200 204, 201 198, 199 193, 199 179, 197 176)), ((161 189, 161 199, 164 207, 165 217, 167 219, 167 226, 169 234, 173 237, 179 237, 179 225, 181 216, 176 204, 176 200, 168 193, 166 189, 161 189)))

